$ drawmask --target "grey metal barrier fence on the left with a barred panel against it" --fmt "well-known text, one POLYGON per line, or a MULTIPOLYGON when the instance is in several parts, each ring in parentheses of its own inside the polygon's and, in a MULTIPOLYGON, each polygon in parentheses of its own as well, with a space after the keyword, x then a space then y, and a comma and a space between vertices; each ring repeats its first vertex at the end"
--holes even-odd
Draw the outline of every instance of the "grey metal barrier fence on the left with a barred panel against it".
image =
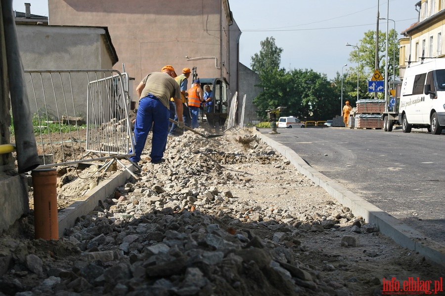
POLYGON ((39 168, 106 161, 133 151, 128 74, 117 70, 25 71, 39 168))

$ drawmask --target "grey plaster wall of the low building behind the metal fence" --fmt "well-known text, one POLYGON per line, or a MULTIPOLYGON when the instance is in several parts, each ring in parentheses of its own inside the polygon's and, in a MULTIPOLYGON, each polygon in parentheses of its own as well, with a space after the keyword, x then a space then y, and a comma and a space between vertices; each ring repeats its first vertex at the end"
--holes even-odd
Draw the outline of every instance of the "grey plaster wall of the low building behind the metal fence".
MULTIPOLYGON (((24 70, 82 70, 112 69, 118 61, 116 52, 106 28, 72 26, 36 26, 18 24, 17 37, 24 70)), ((77 115, 87 112, 85 81, 73 76, 73 91, 77 115)), ((37 111, 34 102, 32 83, 25 75, 31 112, 37 111)), ((49 83, 49 81, 47 81, 49 83)), ((56 90, 62 93, 62 90, 56 90)), ((53 99, 52 93, 45 94, 47 102, 53 99)), ((37 93, 38 105, 44 105, 44 96, 37 93)), ((54 104, 47 105, 49 114, 56 114, 54 104)), ((60 118, 51 118, 53 120, 60 118)))

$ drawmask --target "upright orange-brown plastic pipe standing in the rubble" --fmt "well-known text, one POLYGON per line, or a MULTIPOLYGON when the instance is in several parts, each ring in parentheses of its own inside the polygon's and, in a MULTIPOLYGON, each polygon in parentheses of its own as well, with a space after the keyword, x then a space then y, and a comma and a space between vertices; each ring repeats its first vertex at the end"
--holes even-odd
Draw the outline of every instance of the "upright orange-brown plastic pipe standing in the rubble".
POLYGON ((34 237, 59 239, 57 220, 57 171, 38 169, 31 172, 34 186, 34 237))

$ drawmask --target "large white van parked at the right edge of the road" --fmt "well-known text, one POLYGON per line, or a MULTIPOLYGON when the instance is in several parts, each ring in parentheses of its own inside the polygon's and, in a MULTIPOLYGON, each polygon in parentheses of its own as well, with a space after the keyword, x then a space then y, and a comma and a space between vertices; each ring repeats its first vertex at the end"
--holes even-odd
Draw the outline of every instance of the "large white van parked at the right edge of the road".
POLYGON ((445 59, 411 63, 401 85, 399 122, 404 133, 425 127, 434 135, 445 127, 445 59))

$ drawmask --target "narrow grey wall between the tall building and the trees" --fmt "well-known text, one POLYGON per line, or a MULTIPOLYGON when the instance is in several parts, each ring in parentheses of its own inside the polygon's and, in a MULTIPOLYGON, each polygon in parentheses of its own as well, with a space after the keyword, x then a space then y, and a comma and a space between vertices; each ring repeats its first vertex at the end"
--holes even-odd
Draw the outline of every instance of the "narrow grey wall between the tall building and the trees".
POLYGON ((239 97, 242 99, 246 94, 246 106, 244 111, 244 123, 259 123, 258 108, 253 105, 253 99, 258 96, 263 89, 256 85, 260 84, 258 74, 248 67, 239 63, 239 97))

